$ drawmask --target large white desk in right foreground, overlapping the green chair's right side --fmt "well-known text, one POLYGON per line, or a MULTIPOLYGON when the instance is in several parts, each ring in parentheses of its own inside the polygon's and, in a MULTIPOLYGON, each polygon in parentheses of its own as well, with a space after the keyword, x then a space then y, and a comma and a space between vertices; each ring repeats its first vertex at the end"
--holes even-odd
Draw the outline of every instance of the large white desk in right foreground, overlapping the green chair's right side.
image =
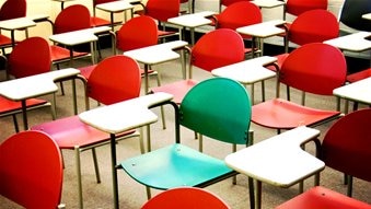
POLYGON ((262 208, 262 182, 290 187, 325 169, 325 163, 302 150, 320 131, 298 127, 227 155, 233 170, 257 181, 255 207, 262 208))

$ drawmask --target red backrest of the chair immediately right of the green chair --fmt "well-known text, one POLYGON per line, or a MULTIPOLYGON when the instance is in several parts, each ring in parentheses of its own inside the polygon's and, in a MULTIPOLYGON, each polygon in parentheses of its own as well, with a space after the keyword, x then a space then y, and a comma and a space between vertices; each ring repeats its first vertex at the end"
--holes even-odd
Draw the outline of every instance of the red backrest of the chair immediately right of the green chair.
POLYGON ((285 59, 279 70, 280 82, 318 95, 333 95, 345 84, 347 63, 343 53, 331 45, 303 45, 285 59))

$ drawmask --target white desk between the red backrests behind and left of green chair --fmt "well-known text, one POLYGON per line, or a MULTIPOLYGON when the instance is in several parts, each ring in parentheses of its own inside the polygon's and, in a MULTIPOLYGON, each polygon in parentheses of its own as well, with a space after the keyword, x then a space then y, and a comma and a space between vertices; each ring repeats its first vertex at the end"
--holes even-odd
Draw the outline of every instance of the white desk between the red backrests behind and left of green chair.
MULTIPOLYGON (((175 60, 179 58, 179 54, 175 53, 174 49, 183 48, 187 46, 188 43, 184 40, 174 40, 167 42, 164 44, 158 44, 149 47, 138 48, 134 50, 125 51, 124 55, 131 57, 144 65, 144 93, 148 93, 149 83, 148 83, 148 71, 150 66, 175 60)), ((184 60, 182 60, 184 62, 184 60)), ((184 65, 182 65, 184 68, 184 65)), ((185 72, 185 68, 182 69, 185 72)))

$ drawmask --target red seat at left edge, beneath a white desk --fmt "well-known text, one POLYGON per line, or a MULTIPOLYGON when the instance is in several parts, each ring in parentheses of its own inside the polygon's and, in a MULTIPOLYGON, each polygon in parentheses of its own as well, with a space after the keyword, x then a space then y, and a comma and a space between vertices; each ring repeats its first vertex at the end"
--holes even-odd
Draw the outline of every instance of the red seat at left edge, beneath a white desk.
MULTIPOLYGON (((44 105, 47 103, 48 102, 45 100, 30 98, 30 100, 26 100, 26 107, 31 108, 31 107, 44 105)), ((21 102, 14 102, 14 101, 0 96, 0 114, 7 114, 7 113, 18 112, 18 111, 22 111, 21 102)))

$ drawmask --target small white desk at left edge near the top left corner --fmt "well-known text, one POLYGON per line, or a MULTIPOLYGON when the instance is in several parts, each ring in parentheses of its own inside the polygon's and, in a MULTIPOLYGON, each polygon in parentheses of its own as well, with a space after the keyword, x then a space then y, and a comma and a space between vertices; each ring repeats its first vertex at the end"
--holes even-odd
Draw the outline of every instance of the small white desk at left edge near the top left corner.
POLYGON ((30 18, 19 18, 19 19, 11 19, 7 21, 0 21, 0 30, 10 31, 13 47, 15 45, 14 31, 25 30, 26 37, 28 37, 27 28, 35 26, 35 25, 36 23, 30 18))

